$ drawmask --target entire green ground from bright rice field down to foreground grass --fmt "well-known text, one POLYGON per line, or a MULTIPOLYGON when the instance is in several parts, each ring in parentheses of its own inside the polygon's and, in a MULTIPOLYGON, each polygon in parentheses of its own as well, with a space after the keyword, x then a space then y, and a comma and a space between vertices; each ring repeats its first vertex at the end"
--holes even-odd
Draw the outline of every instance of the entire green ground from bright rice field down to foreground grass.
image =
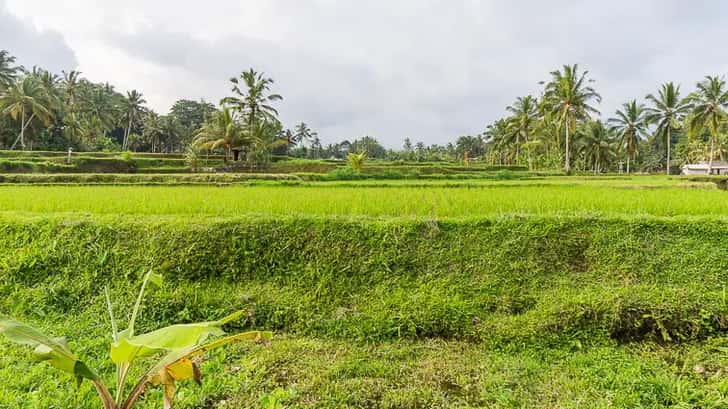
MULTIPOLYGON (((154 267, 143 328, 276 331, 213 354, 186 408, 726 407, 725 192, 653 182, 4 186, 0 312, 99 365, 101 289, 123 316, 154 267)), ((0 343, 0 407, 95 407, 28 356, 0 343)))

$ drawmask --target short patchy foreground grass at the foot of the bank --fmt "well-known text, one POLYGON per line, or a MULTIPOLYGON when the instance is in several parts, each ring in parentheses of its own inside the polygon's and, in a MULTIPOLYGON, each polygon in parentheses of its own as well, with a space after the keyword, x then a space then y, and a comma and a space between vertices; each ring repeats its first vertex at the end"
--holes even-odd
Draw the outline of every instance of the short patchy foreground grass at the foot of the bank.
MULTIPOLYGON (((74 332, 82 331, 103 343, 98 328, 81 324, 74 332)), ((213 354, 202 365, 202 387, 185 384, 176 407, 267 409, 261 402, 275 397, 274 408, 724 408, 728 382, 720 371, 728 359, 718 348, 726 346, 728 338, 707 347, 495 351, 441 340, 360 344, 280 336, 269 347, 213 354)), ((0 347, 23 372, 0 373, 0 407, 98 407, 88 384, 73 392, 68 377, 6 352, 0 347)), ((161 408, 160 401, 152 390, 139 406, 161 408)))

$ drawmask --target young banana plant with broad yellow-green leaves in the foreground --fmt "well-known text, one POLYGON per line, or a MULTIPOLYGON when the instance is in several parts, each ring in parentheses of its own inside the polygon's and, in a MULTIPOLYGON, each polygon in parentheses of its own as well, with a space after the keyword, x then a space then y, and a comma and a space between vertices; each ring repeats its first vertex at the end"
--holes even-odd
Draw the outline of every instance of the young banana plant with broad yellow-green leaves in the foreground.
POLYGON ((129 325, 122 331, 117 330, 108 288, 104 291, 112 329, 110 357, 116 365, 114 395, 101 377, 71 352, 64 338, 51 338, 29 325, 2 315, 0 315, 0 334, 4 334, 11 342, 35 347, 33 352, 38 361, 47 362, 56 369, 70 373, 76 378, 77 384, 80 385, 84 380, 93 383, 104 409, 132 409, 149 386, 162 388, 164 408, 171 409, 177 382, 190 379, 198 384, 201 382, 198 363, 205 352, 237 341, 249 340, 257 343, 270 341, 272 334, 262 331, 223 336, 225 333, 222 326, 239 318, 242 311, 218 321, 172 325, 137 335, 134 332, 134 325, 147 285, 149 283, 161 285, 161 282, 160 275, 151 270, 146 273, 129 325), (215 339, 210 340, 211 337, 215 339), (152 356, 158 356, 160 359, 149 367, 131 391, 124 395, 127 376, 134 362, 152 356))

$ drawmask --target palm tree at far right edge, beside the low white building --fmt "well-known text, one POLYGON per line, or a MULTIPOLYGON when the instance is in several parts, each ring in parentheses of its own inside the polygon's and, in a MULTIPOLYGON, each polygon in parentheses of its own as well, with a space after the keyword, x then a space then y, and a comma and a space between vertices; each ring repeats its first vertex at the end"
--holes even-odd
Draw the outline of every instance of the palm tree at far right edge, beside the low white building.
POLYGON ((707 126, 710 132, 710 156, 708 157, 708 174, 713 171, 713 157, 715 156, 715 141, 718 139, 720 129, 728 120, 728 90, 723 78, 705 77, 698 83, 698 91, 691 97, 694 102, 691 127, 707 126))

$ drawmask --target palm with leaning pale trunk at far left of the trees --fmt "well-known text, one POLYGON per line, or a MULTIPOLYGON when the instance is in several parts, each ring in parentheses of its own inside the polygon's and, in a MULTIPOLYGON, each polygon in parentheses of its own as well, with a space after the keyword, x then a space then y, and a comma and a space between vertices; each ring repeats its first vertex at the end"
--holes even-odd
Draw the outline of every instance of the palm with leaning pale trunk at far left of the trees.
POLYGON ((0 97, 0 112, 9 115, 15 121, 20 121, 20 133, 10 149, 15 149, 18 143, 21 149, 25 149, 25 131, 33 120, 40 119, 45 124, 51 121, 45 90, 42 84, 30 75, 16 81, 7 93, 0 97))

